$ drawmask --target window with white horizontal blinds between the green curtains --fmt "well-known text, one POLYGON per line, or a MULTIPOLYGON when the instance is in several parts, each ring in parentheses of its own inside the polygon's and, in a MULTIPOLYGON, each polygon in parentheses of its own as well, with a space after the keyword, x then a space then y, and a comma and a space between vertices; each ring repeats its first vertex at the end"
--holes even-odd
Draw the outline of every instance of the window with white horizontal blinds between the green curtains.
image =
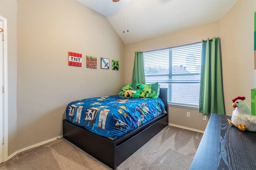
POLYGON ((168 103, 198 107, 202 43, 144 52, 146 83, 168 88, 168 103))

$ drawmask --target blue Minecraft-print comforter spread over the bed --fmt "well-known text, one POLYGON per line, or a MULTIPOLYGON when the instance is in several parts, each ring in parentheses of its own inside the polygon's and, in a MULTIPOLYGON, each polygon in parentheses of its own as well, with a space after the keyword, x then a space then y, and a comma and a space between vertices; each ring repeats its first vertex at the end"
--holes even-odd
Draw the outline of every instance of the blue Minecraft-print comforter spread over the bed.
POLYGON ((66 119, 87 130, 116 138, 164 113, 160 98, 124 98, 120 95, 73 101, 66 119))

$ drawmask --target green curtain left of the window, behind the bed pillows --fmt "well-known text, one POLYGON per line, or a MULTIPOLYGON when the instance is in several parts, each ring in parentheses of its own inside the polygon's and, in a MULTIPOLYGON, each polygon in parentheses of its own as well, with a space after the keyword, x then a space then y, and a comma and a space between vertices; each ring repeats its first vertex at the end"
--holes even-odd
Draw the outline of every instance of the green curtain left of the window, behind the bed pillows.
POLYGON ((132 71, 132 83, 145 84, 144 59, 142 51, 135 51, 134 65, 132 71))

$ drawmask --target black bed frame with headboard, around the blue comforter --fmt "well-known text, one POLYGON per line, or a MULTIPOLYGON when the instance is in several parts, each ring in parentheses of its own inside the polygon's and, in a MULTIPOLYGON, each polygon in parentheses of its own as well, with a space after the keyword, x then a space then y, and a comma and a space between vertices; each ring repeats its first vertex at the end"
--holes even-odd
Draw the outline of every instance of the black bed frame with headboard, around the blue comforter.
MULTIPOLYGON (((168 111, 167 88, 160 88, 159 97, 164 102, 165 110, 168 111)), ((164 113, 114 140, 63 120, 63 137, 115 170, 118 165, 168 125, 167 115, 164 113)))

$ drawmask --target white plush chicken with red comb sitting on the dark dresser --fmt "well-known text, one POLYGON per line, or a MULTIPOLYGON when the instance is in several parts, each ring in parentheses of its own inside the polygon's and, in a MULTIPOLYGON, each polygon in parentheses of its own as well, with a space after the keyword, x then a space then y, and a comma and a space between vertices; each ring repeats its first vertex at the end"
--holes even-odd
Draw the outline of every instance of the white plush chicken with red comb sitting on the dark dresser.
POLYGON ((251 115, 251 108, 244 101, 245 97, 236 97, 232 100, 232 107, 235 110, 232 113, 231 121, 228 122, 232 126, 238 127, 240 130, 256 132, 256 116, 251 115))

